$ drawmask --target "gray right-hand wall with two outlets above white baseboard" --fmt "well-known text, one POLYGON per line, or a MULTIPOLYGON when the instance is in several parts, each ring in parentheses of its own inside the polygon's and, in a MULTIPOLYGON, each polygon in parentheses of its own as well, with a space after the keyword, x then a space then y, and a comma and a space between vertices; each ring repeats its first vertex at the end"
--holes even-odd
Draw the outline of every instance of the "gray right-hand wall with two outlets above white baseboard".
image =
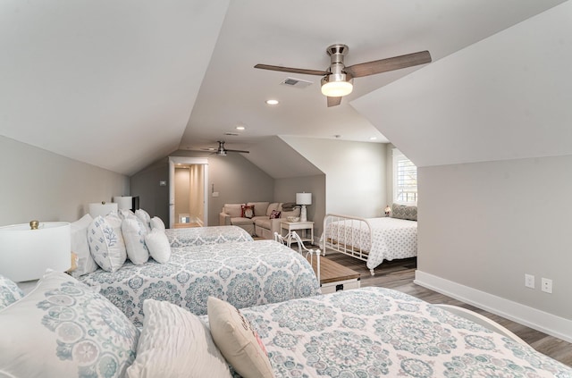
POLYGON ((418 270, 572 319, 570 167, 572 155, 419 168, 418 270))

